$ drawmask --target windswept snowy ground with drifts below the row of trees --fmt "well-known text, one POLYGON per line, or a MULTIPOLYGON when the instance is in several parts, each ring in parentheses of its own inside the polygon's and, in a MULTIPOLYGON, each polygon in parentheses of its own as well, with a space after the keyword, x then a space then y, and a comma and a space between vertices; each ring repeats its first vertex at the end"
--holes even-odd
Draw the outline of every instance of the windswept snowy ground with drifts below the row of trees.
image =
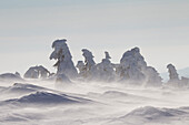
POLYGON ((189 125, 189 90, 0 83, 0 125, 189 125))

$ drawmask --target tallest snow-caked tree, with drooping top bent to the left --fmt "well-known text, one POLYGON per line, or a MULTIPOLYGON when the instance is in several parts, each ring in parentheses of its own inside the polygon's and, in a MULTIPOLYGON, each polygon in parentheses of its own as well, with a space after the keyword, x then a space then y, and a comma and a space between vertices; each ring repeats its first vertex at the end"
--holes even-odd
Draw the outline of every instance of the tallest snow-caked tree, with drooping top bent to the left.
POLYGON ((67 45, 67 40, 56 40, 52 43, 54 51, 50 55, 50 60, 57 60, 54 66, 58 69, 57 74, 64 74, 68 77, 76 77, 78 75, 77 69, 72 62, 70 50, 67 45))

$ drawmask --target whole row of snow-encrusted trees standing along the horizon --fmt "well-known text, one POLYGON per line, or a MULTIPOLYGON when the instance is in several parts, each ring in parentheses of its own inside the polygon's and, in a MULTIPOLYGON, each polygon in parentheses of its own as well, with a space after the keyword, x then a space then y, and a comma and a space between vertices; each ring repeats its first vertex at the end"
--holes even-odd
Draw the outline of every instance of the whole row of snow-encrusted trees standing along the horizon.
MULTIPOLYGON (((147 65, 145 58, 140 54, 139 48, 133 48, 123 53, 119 64, 111 63, 111 56, 105 52, 105 59, 100 63, 96 63, 93 54, 87 49, 82 49, 84 61, 78 61, 74 66, 72 55, 67 45, 67 40, 56 40, 52 43, 53 52, 50 60, 56 60, 53 65, 57 67, 57 80, 63 79, 80 80, 80 81, 99 81, 99 82, 125 82, 139 85, 159 86, 162 84, 161 77, 157 70, 147 65), (78 70, 77 70, 78 69, 78 70)), ((181 80, 178 76, 177 70, 172 64, 168 66, 170 84, 189 84, 187 77, 181 80)), ((50 72, 42 66, 30 67, 24 77, 47 77, 50 72)))

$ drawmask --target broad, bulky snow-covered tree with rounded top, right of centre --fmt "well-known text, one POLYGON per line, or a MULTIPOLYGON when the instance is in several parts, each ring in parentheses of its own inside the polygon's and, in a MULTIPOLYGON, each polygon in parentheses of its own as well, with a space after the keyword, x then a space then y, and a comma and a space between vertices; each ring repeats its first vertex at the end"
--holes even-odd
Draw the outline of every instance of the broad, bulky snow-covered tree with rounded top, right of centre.
POLYGON ((146 76, 141 69, 146 66, 143 56, 139 53, 139 48, 135 48, 123 53, 117 73, 122 80, 142 83, 146 76))

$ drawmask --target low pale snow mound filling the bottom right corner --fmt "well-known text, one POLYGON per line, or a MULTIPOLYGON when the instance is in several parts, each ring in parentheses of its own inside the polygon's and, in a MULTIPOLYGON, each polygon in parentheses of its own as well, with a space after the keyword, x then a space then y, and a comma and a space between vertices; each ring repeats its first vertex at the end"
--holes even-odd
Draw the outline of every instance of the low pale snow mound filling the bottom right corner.
MULTIPOLYGON (((185 107, 186 108, 186 107, 185 107)), ((189 111, 180 108, 139 107, 125 116, 110 121, 109 125, 188 125, 189 111)))

